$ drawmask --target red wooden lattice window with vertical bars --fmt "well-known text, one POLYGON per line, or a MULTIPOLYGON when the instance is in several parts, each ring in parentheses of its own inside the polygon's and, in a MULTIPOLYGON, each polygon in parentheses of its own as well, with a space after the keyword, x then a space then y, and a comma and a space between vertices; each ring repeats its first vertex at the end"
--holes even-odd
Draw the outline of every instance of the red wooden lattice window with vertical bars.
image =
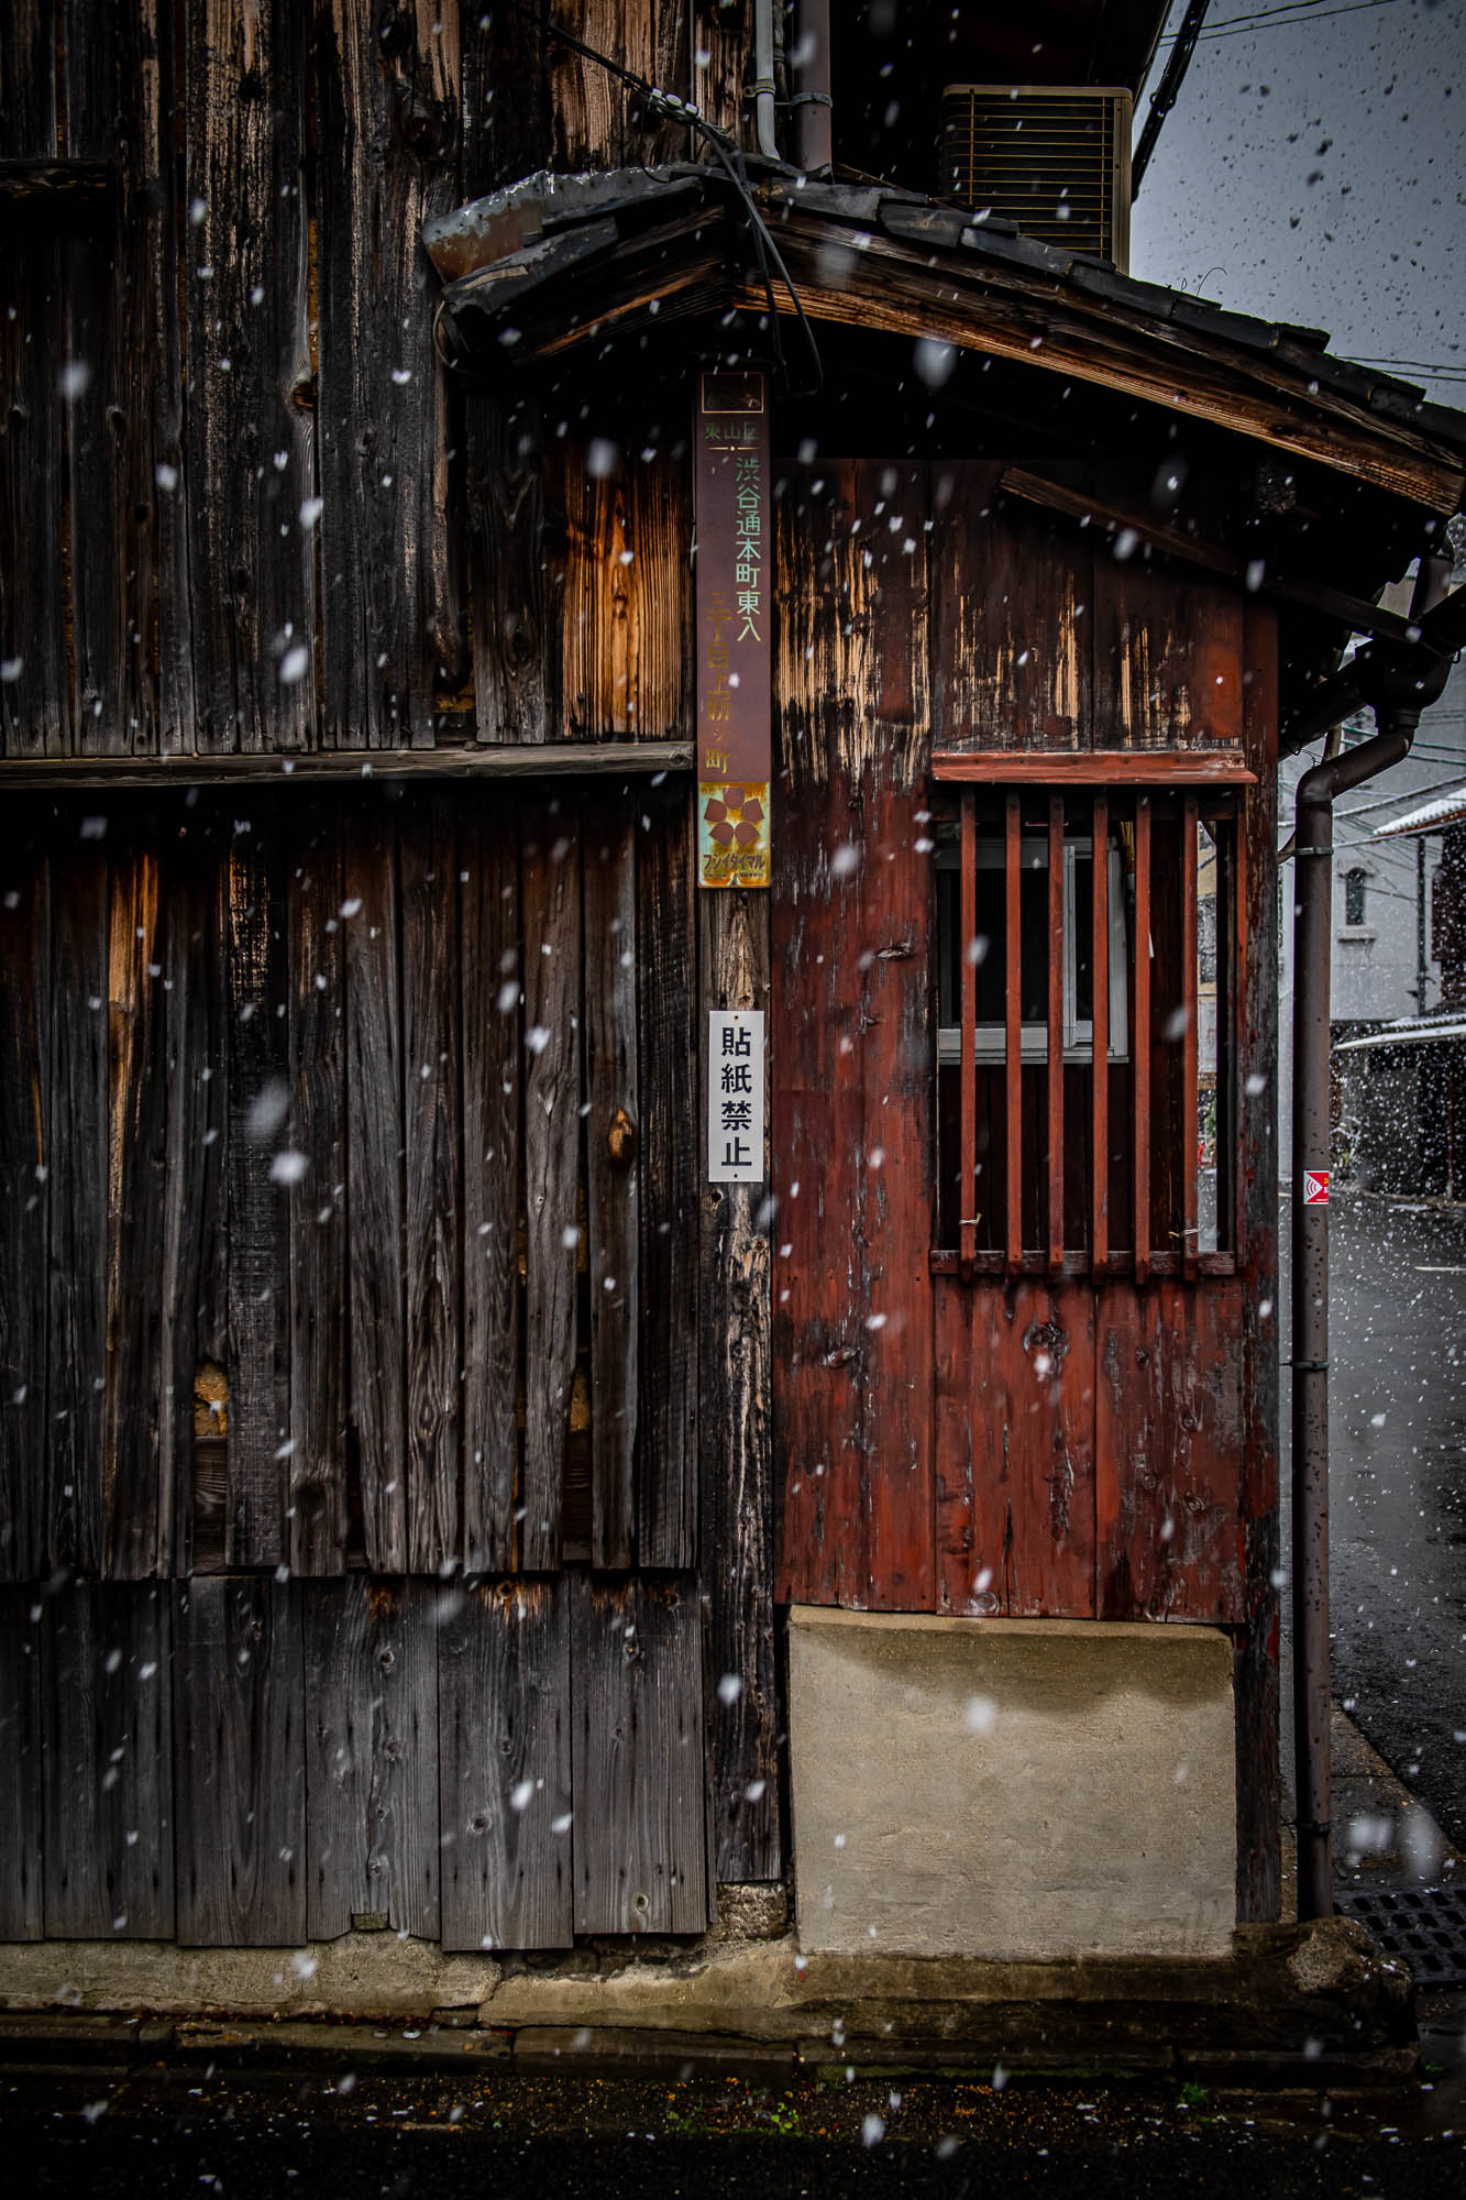
POLYGON ((936 777, 938 1265, 1228 1272, 1250 774, 1092 752, 936 777))

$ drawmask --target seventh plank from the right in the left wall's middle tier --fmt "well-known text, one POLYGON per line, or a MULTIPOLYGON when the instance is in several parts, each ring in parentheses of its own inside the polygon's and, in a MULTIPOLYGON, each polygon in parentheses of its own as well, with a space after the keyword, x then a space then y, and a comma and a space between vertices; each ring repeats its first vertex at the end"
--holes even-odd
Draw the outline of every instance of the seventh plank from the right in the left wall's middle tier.
POLYGON ((302 818, 286 884, 291 1032, 291 1465, 293 1573, 346 1564, 346 1122, 341 829, 302 818))

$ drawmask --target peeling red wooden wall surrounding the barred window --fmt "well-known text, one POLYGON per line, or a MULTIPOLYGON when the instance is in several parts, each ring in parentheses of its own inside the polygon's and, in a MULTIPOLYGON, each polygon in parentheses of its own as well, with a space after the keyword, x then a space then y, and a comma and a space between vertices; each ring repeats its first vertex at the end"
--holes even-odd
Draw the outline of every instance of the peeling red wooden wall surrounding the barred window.
MULTIPOLYGON (((1136 1283, 1112 1252, 1103 1280, 962 1280, 955 1258, 933 1258, 929 759, 933 746, 1246 750, 1259 785, 1241 832, 1241 1065, 1270 1060, 1274 636, 1224 587, 1004 504, 995 466, 821 460, 819 475, 790 488, 779 524, 779 1595, 1226 1624, 1244 1729, 1239 1901, 1272 1914, 1266 1093, 1237 1067, 1233 1274, 1136 1283)), ((1153 1186, 1164 1221, 1169 1197, 1153 1186)))

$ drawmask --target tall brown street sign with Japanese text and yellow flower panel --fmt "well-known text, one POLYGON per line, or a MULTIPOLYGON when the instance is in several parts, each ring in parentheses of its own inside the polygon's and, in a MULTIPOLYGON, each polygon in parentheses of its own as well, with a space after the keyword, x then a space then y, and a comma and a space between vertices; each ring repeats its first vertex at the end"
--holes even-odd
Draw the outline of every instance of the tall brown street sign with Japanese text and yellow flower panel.
POLYGON ((768 884, 773 506, 768 376, 702 374, 698 884, 768 884))

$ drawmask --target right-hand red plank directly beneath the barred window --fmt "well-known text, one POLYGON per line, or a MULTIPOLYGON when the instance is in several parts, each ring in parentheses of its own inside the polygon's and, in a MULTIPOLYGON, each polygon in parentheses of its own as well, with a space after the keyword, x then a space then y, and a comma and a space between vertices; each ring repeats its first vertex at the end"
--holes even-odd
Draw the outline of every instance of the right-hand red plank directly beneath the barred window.
POLYGON ((1101 1619, 1244 1617, 1241 1285, 1112 1280, 1098 1296, 1101 1619))

